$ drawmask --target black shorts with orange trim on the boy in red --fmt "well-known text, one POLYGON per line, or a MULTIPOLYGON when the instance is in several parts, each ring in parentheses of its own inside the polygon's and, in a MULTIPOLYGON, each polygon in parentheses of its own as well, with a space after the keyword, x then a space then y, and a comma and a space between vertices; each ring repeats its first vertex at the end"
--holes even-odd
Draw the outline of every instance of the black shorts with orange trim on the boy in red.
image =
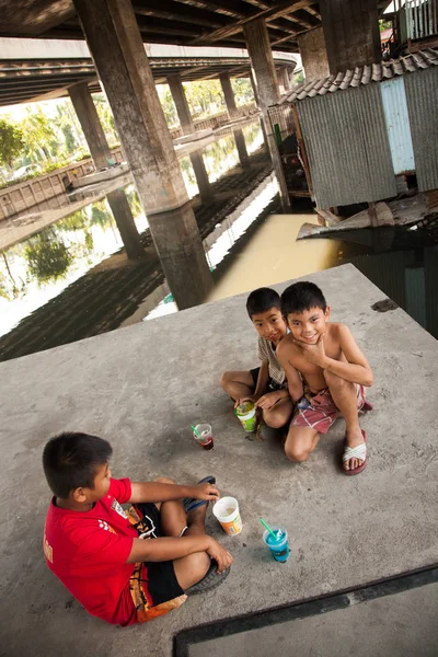
MULTIPOLYGON (((148 541, 162 535, 160 511, 154 504, 132 505, 128 516, 131 522, 137 520, 132 525, 139 538, 148 541)), ((130 577, 130 592, 140 623, 168 613, 186 600, 172 561, 136 564, 130 577)))

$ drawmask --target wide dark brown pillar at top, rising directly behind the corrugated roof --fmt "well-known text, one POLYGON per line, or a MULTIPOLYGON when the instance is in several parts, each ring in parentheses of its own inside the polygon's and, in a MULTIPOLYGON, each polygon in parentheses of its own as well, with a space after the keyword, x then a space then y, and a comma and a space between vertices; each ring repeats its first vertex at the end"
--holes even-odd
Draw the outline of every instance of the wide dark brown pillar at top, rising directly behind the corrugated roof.
POLYGON ((320 0, 320 12, 331 74, 381 60, 377 0, 320 0))

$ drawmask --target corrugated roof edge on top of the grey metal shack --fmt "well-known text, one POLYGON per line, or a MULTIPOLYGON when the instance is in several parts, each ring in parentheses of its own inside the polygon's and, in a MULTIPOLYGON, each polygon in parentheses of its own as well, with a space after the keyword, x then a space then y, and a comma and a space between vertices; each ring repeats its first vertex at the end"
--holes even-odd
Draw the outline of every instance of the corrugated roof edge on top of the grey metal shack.
POLYGON ((303 82, 293 89, 291 93, 284 96, 280 104, 312 99, 316 95, 325 95, 328 92, 334 93, 338 90, 343 91, 344 89, 360 87, 370 82, 381 82, 382 80, 390 80, 395 76, 404 76, 405 73, 434 66, 438 66, 438 51, 433 48, 426 48, 400 59, 358 66, 354 70, 337 73, 337 76, 303 82))

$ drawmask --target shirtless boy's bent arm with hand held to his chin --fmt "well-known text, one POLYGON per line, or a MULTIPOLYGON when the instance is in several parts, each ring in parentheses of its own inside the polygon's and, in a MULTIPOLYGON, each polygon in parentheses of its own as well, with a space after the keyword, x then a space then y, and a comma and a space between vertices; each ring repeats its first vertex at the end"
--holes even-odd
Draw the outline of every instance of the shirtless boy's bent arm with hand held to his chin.
MULTIPOLYGON (((371 368, 353 337, 350 330, 348 326, 341 324, 338 331, 339 346, 348 362, 325 356, 323 369, 333 372, 346 381, 350 381, 350 383, 367 387, 372 385, 374 378, 371 368)), ((324 349, 323 339, 320 339, 322 342, 322 349, 324 349)))

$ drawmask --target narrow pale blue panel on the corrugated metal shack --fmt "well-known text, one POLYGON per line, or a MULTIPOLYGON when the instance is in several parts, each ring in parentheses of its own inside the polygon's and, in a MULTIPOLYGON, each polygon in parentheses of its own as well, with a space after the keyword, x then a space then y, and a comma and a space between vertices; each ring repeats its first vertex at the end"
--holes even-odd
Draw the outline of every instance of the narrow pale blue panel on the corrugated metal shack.
POLYGON ((394 174, 415 170, 404 77, 380 84, 394 174))

